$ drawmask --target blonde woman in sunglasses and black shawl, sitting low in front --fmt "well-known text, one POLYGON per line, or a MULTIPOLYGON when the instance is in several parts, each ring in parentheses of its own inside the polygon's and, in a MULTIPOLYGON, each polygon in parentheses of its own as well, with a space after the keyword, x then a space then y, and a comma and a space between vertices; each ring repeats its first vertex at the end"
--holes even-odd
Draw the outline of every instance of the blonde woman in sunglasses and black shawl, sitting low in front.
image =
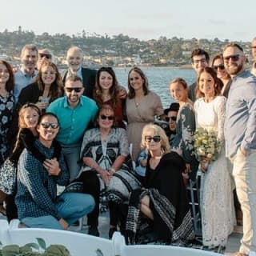
POLYGON ((148 124, 142 130, 142 146, 148 150, 144 188, 134 190, 126 220, 126 242, 145 243, 149 232, 165 243, 186 243, 194 238, 190 205, 182 171, 184 160, 170 152, 165 131, 148 124))

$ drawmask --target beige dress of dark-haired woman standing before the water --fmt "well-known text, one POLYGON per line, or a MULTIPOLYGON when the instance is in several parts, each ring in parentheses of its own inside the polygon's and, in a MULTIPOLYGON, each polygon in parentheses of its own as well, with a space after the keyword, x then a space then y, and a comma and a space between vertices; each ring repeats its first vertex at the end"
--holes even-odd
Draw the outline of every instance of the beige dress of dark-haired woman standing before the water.
POLYGON ((142 150, 142 129, 150 122, 154 122, 155 115, 162 115, 162 102, 158 94, 151 92, 146 94, 142 102, 136 105, 134 98, 126 99, 126 115, 128 119, 128 142, 132 143, 132 158, 137 160, 142 150))

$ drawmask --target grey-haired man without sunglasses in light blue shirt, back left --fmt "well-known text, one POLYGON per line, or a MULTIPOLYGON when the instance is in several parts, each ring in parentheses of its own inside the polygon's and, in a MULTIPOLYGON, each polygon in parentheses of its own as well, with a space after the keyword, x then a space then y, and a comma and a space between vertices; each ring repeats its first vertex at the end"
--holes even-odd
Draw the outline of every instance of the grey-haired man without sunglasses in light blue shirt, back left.
POLYGON ((33 44, 23 46, 21 53, 22 67, 14 74, 14 97, 15 102, 18 102, 18 95, 22 89, 34 82, 38 71, 35 67, 38 62, 38 48, 33 44))

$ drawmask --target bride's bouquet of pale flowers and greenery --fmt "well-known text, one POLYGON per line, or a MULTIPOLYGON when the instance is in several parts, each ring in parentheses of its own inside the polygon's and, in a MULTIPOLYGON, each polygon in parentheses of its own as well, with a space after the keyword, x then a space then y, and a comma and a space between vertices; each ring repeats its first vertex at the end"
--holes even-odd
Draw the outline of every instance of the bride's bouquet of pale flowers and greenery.
POLYGON ((218 140, 214 131, 198 128, 194 132, 194 155, 198 161, 210 163, 218 158, 222 143, 218 140))

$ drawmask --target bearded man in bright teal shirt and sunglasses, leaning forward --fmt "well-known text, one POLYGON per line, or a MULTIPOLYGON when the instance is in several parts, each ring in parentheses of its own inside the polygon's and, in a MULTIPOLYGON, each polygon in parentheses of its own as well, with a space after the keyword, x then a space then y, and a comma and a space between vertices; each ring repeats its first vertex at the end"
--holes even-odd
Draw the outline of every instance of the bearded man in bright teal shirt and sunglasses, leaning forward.
POLYGON ((64 86, 66 96, 50 103, 46 110, 58 116, 60 130, 57 140, 62 144, 64 158, 70 171, 70 181, 77 177, 80 170, 78 160, 83 134, 98 112, 96 102, 82 95, 84 90, 82 79, 70 75, 66 78, 64 86))

